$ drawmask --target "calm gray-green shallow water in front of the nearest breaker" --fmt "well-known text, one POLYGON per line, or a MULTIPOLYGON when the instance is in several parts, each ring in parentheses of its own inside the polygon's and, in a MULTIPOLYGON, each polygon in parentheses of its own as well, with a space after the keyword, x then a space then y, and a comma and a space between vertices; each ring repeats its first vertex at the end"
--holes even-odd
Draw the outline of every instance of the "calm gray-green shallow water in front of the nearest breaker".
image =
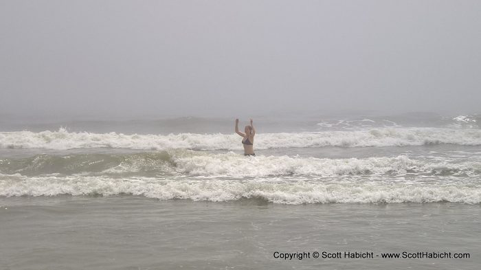
POLYGON ((22 196, 1 198, 0 205, 2 269, 477 269, 481 263, 480 205, 142 196, 22 196), (274 258, 276 251, 470 258, 283 260, 274 258))

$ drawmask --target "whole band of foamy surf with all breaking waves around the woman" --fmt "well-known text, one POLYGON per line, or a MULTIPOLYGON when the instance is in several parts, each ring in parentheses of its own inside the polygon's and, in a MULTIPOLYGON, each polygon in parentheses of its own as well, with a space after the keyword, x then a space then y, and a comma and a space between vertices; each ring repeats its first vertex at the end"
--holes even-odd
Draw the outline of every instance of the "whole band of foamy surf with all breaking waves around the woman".
POLYGON ((256 157, 241 155, 232 133, 1 132, 0 196, 481 203, 481 130, 452 126, 476 119, 322 120, 312 131, 259 132, 256 157))

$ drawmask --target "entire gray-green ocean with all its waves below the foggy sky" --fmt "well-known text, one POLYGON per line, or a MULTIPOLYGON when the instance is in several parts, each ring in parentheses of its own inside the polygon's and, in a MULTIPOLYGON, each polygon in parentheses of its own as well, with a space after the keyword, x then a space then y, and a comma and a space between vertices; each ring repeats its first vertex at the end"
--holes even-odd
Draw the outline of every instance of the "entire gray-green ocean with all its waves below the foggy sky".
POLYGON ((5 269, 476 269, 479 115, 0 120, 5 269), (242 124, 247 124, 242 123, 242 124), (469 258, 304 258, 319 251, 469 258), (188 254, 188 255, 186 255, 188 254), (78 257, 82 260, 79 260, 78 257))

